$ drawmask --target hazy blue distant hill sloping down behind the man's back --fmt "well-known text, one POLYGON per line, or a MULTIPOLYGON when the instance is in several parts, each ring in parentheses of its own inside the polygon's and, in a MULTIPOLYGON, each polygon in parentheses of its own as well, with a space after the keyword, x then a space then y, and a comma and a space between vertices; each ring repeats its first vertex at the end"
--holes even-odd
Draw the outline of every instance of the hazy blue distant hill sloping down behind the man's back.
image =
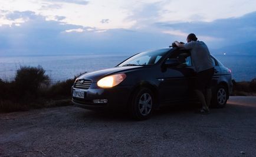
POLYGON ((212 49, 213 54, 229 54, 229 55, 256 55, 256 41, 225 46, 219 49, 212 49))

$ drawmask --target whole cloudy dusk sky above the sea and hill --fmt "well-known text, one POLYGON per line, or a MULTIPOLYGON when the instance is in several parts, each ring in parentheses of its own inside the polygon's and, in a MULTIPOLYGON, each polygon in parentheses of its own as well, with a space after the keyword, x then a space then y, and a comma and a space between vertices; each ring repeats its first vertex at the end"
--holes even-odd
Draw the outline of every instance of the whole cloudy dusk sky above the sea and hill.
POLYGON ((134 54, 256 41, 256 1, 0 0, 0 55, 134 54))

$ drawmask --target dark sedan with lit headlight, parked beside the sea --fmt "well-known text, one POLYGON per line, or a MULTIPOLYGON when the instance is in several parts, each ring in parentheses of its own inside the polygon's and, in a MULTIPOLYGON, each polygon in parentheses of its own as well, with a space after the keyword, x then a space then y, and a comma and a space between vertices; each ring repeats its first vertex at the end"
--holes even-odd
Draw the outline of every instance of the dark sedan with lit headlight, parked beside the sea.
MULTIPOLYGON (((232 91, 231 71, 212 56, 212 106, 224 107, 232 91)), ((196 101, 191 54, 164 48, 136 54, 114 68, 79 76, 72 102, 86 109, 126 109, 136 119, 174 102, 196 101)))

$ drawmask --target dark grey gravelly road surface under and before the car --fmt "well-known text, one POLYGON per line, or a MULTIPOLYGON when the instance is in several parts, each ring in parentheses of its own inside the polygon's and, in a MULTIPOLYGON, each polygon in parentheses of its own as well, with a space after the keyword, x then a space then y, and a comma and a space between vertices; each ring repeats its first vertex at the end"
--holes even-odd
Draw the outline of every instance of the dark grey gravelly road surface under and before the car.
POLYGON ((256 96, 223 109, 156 111, 147 121, 65 106, 0 114, 0 156, 256 156, 256 96))

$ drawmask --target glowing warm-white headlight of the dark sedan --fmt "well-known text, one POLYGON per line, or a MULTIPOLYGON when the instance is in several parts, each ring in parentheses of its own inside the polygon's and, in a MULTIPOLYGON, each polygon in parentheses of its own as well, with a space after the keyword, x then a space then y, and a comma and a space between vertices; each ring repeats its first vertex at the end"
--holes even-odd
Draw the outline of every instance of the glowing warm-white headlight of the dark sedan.
POLYGON ((126 74, 116 74, 106 76, 97 82, 97 85, 101 88, 111 88, 118 85, 126 78, 126 74))

